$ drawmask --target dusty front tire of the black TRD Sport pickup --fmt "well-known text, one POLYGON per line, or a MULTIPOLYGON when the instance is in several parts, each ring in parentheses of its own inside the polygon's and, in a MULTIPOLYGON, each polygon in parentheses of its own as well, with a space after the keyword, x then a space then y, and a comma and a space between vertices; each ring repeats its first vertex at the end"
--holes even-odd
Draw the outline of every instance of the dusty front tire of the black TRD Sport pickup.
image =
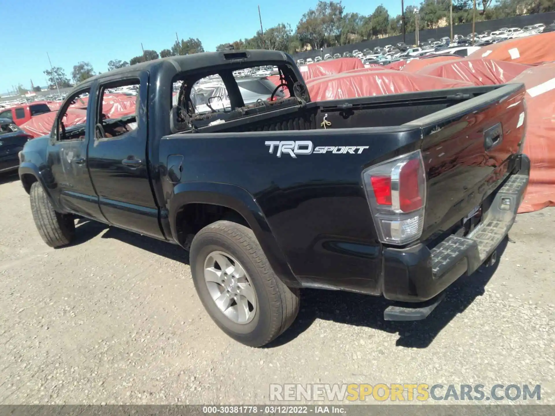
POLYGON ((38 182, 31 185, 29 194, 33 220, 44 242, 54 248, 67 246, 72 242, 75 236, 73 215, 56 212, 38 182))

